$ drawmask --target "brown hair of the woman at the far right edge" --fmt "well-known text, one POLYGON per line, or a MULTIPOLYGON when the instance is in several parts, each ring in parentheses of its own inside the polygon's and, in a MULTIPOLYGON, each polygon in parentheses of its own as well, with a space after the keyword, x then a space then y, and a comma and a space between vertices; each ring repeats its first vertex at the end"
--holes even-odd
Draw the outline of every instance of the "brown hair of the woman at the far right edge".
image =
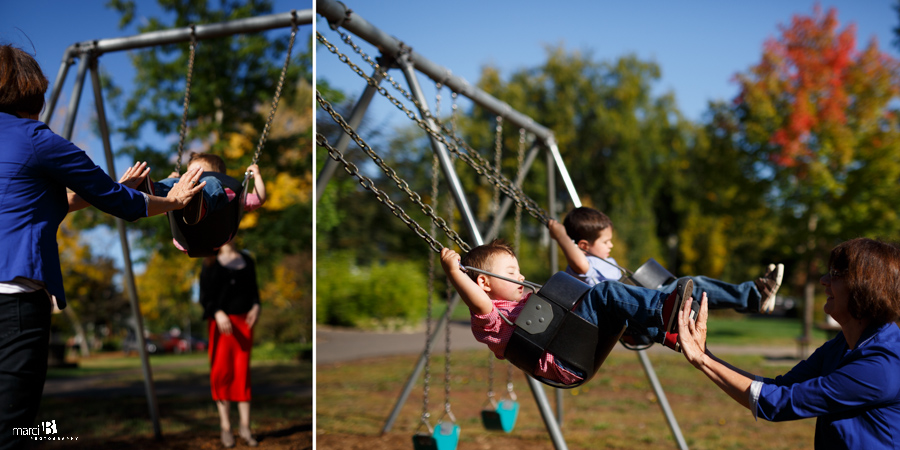
POLYGON ((831 250, 828 267, 833 278, 847 284, 847 311, 855 319, 873 323, 900 317, 900 247, 868 238, 843 242, 831 250))

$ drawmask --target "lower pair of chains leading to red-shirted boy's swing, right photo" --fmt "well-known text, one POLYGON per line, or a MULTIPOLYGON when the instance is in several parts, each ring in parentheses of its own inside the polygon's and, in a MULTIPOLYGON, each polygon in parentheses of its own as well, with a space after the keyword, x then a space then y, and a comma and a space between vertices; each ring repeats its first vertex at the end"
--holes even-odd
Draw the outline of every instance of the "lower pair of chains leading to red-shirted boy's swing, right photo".
MULTIPOLYGON (((407 194, 409 199, 412 200, 414 203, 416 203, 422 209, 422 212, 424 212, 425 215, 427 215, 429 218, 431 218, 431 220, 434 221, 437 224, 437 226, 440 227, 441 230, 443 230, 444 233, 450 239, 452 239, 453 242, 455 242, 459 246, 460 249, 462 249, 463 251, 466 251, 466 252, 469 251, 469 249, 470 249, 469 245, 466 244, 466 242, 462 240, 462 238, 459 236, 459 234, 456 231, 450 229, 447 226, 447 222, 443 218, 438 216, 434 212, 434 209, 431 208, 431 206, 423 203, 421 196, 419 194, 415 193, 414 191, 412 191, 409 188, 409 184, 406 181, 401 180, 397 176, 396 172, 394 172, 393 169, 388 167, 384 163, 384 161, 377 154, 374 153, 372 148, 365 141, 362 140, 362 138, 349 126, 349 124, 347 124, 346 121, 344 121, 344 118, 341 117, 341 115, 338 114, 334 110, 334 108, 331 106, 331 104, 328 103, 328 101, 326 101, 324 98, 322 98, 322 95, 319 93, 318 90, 316 90, 316 100, 319 102, 319 105, 322 107, 322 109, 325 110, 326 112, 328 112, 328 114, 331 115, 332 119, 334 119, 335 122, 337 122, 338 125, 340 125, 341 128, 344 129, 344 132, 346 132, 359 145, 359 147, 361 149, 363 149, 363 151, 365 151, 366 154, 368 154, 373 159, 373 161, 375 161, 375 163, 378 164, 379 167, 382 168, 382 170, 385 172, 386 175, 388 175, 388 177, 390 177, 392 180, 394 180, 394 183, 403 192, 405 192, 407 194)), ((343 153, 341 153, 336 148, 334 148, 331 144, 329 144, 328 140, 325 138, 324 135, 322 135, 321 133, 316 133, 316 143, 325 147, 328 150, 328 156, 331 157, 331 159, 334 159, 335 161, 338 161, 341 164, 343 164, 344 169, 347 171, 347 173, 356 177, 359 180, 360 185, 362 185, 364 188, 366 188, 369 191, 372 191, 375 194, 375 196, 378 198, 379 202, 383 203, 385 206, 390 208, 391 212, 395 216, 397 216, 400 220, 402 220, 403 223, 405 223, 407 227, 409 227, 411 230, 413 230, 416 233, 416 235, 418 235, 420 238, 424 239, 425 242, 427 242, 428 245, 431 246, 432 250, 434 250, 437 253, 440 253, 441 249, 444 246, 440 242, 438 242, 434 237, 432 237, 430 234, 428 234, 428 232, 425 231, 425 229, 422 228, 421 225, 416 223, 415 220, 413 220, 403 210, 403 208, 401 208, 400 206, 395 204, 393 201, 391 201, 390 197, 388 197, 388 195, 384 191, 381 191, 380 189, 375 187, 375 183, 370 178, 359 173, 359 168, 355 164, 351 163, 350 161, 347 161, 344 158, 343 153)))

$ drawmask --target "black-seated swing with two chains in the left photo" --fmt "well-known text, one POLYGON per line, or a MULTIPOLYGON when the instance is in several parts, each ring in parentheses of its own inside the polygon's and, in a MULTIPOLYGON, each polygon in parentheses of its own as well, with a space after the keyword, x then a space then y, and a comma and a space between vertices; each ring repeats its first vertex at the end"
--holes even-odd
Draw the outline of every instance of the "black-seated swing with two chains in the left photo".
MULTIPOLYGON (((259 160, 260 152, 262 151, 262 148, 266 142, 269 127, 271 126, 272 120, 275 117, 275 111, 278 109, 278 101, 281 97, 281 89, 284 85, 284 78, 287 73, 288 65, 290 63, 291 53, 294 47, 294 40, 297 36, 297 28, 298 22, 295 11, 293 13, 291 23, 291 37, 290 42, 288 43, 287 56, 284 59, 284 65, 281 69, 281 76, 278 79, 275 96, 272 100, 272 109, 269 112, 268 118, 266 119, 265 127, 260 134, 259 143, 257 144, 256 152, 253 155, 253 162, 251 163, 251 165, 256 164, 259 160)), ((187 131, 187 114, 191 98, 191 81, 194 72, 194 57, 196 55, 196 47, 197 36, 194 32, 194 27, 192 26, 190 55, 188 57, 188 70, 184 89, 184 110, 181 115, 181 128, 179 131, 178 139, 178 156, 175 160, 175 173, 179 173, 181 170, 181 160, 184 153, 184 138, 187 131)), ((223 208, 208 211, 203 220, 194 222, 192 224, 189 223, 189 221, 185 220, 184 210, 175 210, 166 213, 166 216, 169 220, 169 228, 172 231, 172 238, 178 243, 178 245, 181 246, 181 248, 183 248, 187 252, 188 256, 190 256, 191 258, 214 256, 216 255, 219 247, 234 239, 234 236, 237 234, 238 227, 240 226, 241 218, 243 217, 247 194, 250 192, 250 178, 252 176, 252 173, 245 172, 243 182, 225 175, 224 173, 218 172, 205 172, 203 176, 214 177, 219 180, 224 188, 229 189, 234 193, 234 199, 229 201, 227 206, 223 208)), ((145 179, 142 190, 145 190, 145 192, 150 191, 149 177, 145 179)))

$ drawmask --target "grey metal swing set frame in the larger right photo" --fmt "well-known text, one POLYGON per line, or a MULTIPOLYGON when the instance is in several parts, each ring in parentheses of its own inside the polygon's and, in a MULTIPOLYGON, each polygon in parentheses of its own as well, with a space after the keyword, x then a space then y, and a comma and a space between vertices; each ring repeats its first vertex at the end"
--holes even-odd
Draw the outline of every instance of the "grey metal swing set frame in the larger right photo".
MULTIPOLYGON (((527 172, 530 170, 532 163, 537 158, 541 147, 543 147, 547 150, 546 158, 549 198, 549 205, 547 210, 557 210, 557 170, 560 177, 562 178, 562 182, 566 188, 567 193, 569 194, 569 198, 571 199, 572 203, 576 207, 581 206, 579 196, 568 174, 566 166, 562 161, 562 157, 559 153, 559 148, 556 144, 553 132, 551 130, 536 123, 530 117, 514 110, 508 104, 470 85, 465 79, 453 75, 449 69, 433 63, 424 56, 416 53, 405 43, 393 36, 384 33, 339 1, 317 0, 316 13, 324 17, 333 29, 339 30, 340 28, 343 28, 347 32, 352 33, 353 35, 365 40, 366 42, 378 48, 381 52, 382 60, 390 62, 389 67, 387 67, 388 69, 399 68, 402 71, 404 78, 406 79, 410 95, 416 103, 416 106, 419 108, 419 113, 422 117, 422 121, 427 124, 428 129, 426 129, 425 131, 427 131, 429 134, 432 151, 437 156, 440 162, 442 174, 446 183, 449 185, 458 212, 462 217, 462 222, 464 223, 466 230, 471 236, 472 241, 475 242, 476 245, 483 244, 485 240, 483 239, 482 232, 481 230, 479 230, 475 222, 474 214, 472 213, 468 201, 466 200, 462 185, 453 167, 450 153, 447 146, 444 144, 444 142, 446 141, 437 139, 435 137, 441 132, 441 130, 439 125, 435 122, 429 112, 428 101, 426 100, 419 85, 416 74, 417 71, 431 78, 435 83, 446 86, 453 92, 469 98, 473 103, 477 104, 481 108, 484 108, 486 111, 503 117, 503 120, 506 123, 524 129, 535 137, 535 143, 530 149, 529 154, 517 176, 517 179, 515 180, 516 189, 521 187, 527 172)), ((342 59, 343 58, 345 58, 345 56, 342 56, 342 59)), ((376 69, 371 77, 365 76, 363 73, 359 72, 359 74, 366 78, 368 82, 365 90, 360 95, 354 108, 352 109, 349 119, 347 120, 346 125, 348 125, 350 128, 355 130, 360 125, 363 116, 365 115, 366 110, 368 109, 372 98, 374 97, 375 92, 384 90, 384 88, 380 87, 379 85, 385 78, 385 72, 386 71, 383 71, 380 68, 376 69)), ((393 80, 391 80, 391 82, 394 83, 393 80)), ((409 112, 407 112, 407 115, 409 115, 409 112)), ((422 123, 420 123, 419 125, 422 126, 422 123)), ((334 148, 337 149, 338 152, 343 152, 344 150, 346 150, 351 139, 352 137, 348 133, 341 133, 334 148)), ((334 159, 326 160, 326 163, 319 172, 318 178, 316 180, 317 201, 322 195, 322 192, 324 191, 338 166, 338 161, 334 159)), ((381 197, 379 197, 379 199, 381 199, 381 197)), ((512 206, 512 203, 513 199, 509 196, 504 198, 502 205, 500 205, 500 207, 498 208, 498 212, 494 217, 494 221, 490 229, 487 231, 487 233, 485 233, 486 236, 496 236, 496 234, 499 232, 503 218, 508 214, 509 208, 512 206)), ((434 219, 434 217, 432 217, 432 219, 434 219)), ((407 225, 409 225, 409 223, 407 223, 407 225)), ((432 244, 432 248, 434 248, 434 244, 432 244)), ((438 249, 435 248, 435 250, 438 249)), ((556 246, 551 245, 550 264, 553 271, 558 270, 556 261, 558 261, 558 249, 556 248, 556 246)), ((452 311, 458 305, 458 303, 459 296, 457 295, 454 296, 454 298, 448 304, 448 309, 452 311)), ((390 431, 393 427, 393 424, 397 416, 399 415, 400 409, 406 402, 416 380, 419 378, 425 366, 425 360, 437 340, 439 330, 445 325, 448 317, 449 314, 444 314, 436 325, 434 333, 426 336, 425 350, 418 358, 418 361, 412 373, 408 377, 407 382, 404 385, 393 410, 387 418, 384 427, 382 428, 383 433, 390 431)), ((680 449, 687 449, 687 443, 684 440, 684 437, 678 426, 678 422, 675 419, 674 413, 669 406, 666 395, 662 390, 662 386, 659 383, 659 380, 656 376, 650 359, 646 354, 646 351, 640 349, 636 352, 638 353, 641 365, 643 366, 644 371, 653 388, 653 391, 656 394, 659 404, 663 410, 663 414, 665 415, 666 421, 669 425, 673 437, 676 440, 676 443, 678 444, 678 447, 680 449)), ((556 448, 557 450, 567 449, 568 447, 565 443, 562 431, 559 426, 559 423, 562 421, 561 391, 558 389, 556 390, 556 415, 554 416, 553 410, 550 407, 550 403, 541 383, 531 376, 526 376, 526 379, 528 381, 529 387, 531 388, 535 403, 547 428, 548 434, 551 438, 551 441, 553 442, 554 448, 556 448)))

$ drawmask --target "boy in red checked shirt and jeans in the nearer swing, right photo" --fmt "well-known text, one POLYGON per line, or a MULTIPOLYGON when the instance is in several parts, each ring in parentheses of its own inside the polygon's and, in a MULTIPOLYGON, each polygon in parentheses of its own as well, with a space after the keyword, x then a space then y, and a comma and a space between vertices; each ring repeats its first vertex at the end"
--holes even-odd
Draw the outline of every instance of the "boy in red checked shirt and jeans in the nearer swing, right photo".
MULTIPOLYGON (((497 358, 503 359, 514 330, 513 322, 531 292, 526 294, 523 286, 507 280, 474 271, 464 272, 462 266, 522 281, 525 277, 519 272, 515 252, 502 240, 475 247, 463 258, 452 249, 444 248, 441 266, 469 307, 475 339, 487 344, 497 358)), ((655 342, 680 351, 678 312, 685 301, 690 301, 692 290, 693 281, 687 278, 679 280, 676 289, 668 294, 617 282, 601 282, 591 287, 574 312, 601 330, 620 329, 627 322, 633 328, 644 330, 655 342)), ((567 367, 549 352, 541 356, 532 375, 567 385, 579 383, 586 376, 567 367)))

